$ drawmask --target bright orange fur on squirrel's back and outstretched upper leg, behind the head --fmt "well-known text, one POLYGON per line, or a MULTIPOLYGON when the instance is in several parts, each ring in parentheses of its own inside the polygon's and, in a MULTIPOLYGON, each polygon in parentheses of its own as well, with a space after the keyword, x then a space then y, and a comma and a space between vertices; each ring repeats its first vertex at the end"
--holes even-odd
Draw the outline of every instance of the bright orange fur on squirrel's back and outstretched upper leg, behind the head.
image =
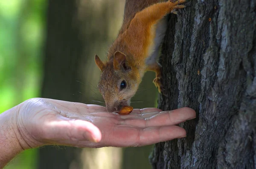
POLYGON ((172 6, 174 5, 170 2, 157 3, 138 12, 127 29, 119 34, 111 46, 108 59, 111 59, 113 52, 121 51, 127 55, 131 63, 139 64, 134 65, 135 67, 144 68, 148 48, 154 39, 155 25, 158 20, 172 11, 172 6))

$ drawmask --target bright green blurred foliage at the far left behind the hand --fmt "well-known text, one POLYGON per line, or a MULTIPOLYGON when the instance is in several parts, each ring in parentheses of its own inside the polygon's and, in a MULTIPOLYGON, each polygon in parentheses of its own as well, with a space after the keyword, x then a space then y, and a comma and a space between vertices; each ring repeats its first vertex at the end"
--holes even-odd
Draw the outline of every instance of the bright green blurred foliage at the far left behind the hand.
MULTIPOLYGON (((0 113, 40 97, 45 0, 0 1, 0 113)), ((37 150, 18 155, 6 169, 34 169, 37 150)))

